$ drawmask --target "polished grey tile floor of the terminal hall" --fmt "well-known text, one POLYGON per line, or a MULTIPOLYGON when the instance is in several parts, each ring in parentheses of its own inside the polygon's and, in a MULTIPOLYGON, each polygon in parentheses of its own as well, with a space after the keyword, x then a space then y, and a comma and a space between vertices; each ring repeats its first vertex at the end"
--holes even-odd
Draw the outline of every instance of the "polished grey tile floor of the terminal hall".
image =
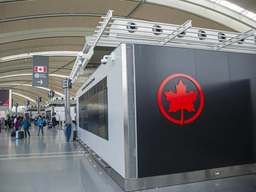
MULTIPOLYGON (((31 138, 0 134, 0 192, 123 192, 112 178, 75 141, 66 142, 62 130, 45 129, 31 138)), ((256 176, 210 180, 141 192, 256 192, 256 176)), ((137 191, 136 191, 137 192, 137 191)), ((138 191, 140 192, 140 191, 138 191)))

